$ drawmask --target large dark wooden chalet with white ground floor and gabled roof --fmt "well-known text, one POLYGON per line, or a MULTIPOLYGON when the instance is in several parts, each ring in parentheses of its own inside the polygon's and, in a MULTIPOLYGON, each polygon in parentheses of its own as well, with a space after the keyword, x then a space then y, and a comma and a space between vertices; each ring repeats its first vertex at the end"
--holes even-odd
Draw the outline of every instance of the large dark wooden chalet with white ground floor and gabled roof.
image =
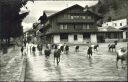
POLYGON ((76 4, 48 16, 42 36, 50 43, 97 43, 97 21, 101 18, 88 6, 76 4))

